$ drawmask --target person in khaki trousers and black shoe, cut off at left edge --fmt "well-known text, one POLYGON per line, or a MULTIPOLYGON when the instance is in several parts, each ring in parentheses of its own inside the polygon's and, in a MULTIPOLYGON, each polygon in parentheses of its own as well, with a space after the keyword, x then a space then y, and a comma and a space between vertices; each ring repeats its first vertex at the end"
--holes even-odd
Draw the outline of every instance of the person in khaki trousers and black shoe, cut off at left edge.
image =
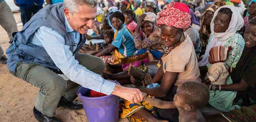
MULTIPOLYGON (((0 0, 0 25, 7 32, 9 39, 12 40, 12 32, 17 32, 18 29, 12 10, 4 0, 0 0)), ((6 64, 6 61, 4 50, 0 46, 0 63, 6 64)))

